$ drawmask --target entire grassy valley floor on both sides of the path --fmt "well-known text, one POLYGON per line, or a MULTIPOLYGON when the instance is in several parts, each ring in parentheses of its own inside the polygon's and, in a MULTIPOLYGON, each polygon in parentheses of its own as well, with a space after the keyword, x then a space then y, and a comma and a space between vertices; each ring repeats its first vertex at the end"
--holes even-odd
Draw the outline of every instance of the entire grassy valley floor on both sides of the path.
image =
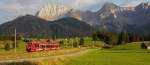
MULTIPOLYGON (((27 53, 23 41, 19 41, 17 52, 14 50, 5 51, 0 49, 0 60, 15 60, 24 58, 38 58, 47 56, 63 55, 68 53, 75 53, 86 50, 87 48, 72 48, 71 43, 77 41, 79 38, 69 39, 70 42, 64 41, 65 49, 54 51, 39 51, 27 53)), ((150 50, 143 50, 140 48, 140 42, 133 42, 123 45, 115 46, 111 49, 100 49, 104 42, 93 42, 92 38, 86 37, 84 39, 84 47, 91 48, 95 46, 98 50, 86 53, 81 56, 64 56, 60 58, 38 60, 38 61, 25 61, 15 63, 16 65, 150 65, 150 50)), ((59 41, 59 40, 58 40, 59 41)), ((3 42, 0 41, 2 44, 3 42)), ((1 45, 0 48, 4 46, 1 45)))

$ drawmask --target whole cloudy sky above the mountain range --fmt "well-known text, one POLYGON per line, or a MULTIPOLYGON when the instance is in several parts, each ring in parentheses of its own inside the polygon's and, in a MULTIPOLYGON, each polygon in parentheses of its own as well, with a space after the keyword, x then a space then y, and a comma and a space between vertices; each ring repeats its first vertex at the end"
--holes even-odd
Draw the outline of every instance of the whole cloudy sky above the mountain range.
POLYGON ((122 7, 134 7, 150 0, 0 0, 0 24, 26 14, 35 15, 47 4, 63 4, 83 11, 99 10, 104 3, 112 2, 122 7))

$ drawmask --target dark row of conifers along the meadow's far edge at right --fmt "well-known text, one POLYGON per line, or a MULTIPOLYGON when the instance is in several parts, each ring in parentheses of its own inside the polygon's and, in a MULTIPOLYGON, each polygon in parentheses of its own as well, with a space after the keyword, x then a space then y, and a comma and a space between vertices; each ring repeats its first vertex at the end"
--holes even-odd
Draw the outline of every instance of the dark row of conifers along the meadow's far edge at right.
POLYGON ((135 33, 126 32, 100 32, 97 31, 92 35, 93 40, 104 41, 108 45, 120 45, 130 42, 150 41, 149 35, 139 35, 135 33))

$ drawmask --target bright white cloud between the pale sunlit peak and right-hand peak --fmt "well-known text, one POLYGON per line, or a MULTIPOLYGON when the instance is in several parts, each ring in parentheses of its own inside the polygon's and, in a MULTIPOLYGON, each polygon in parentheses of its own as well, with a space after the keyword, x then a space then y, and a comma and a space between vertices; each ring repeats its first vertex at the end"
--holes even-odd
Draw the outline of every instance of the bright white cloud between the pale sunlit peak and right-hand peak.
POLYGON ((97 10, 106 2, 112 0, 71 0, 72 7, 80 10, 97 10))

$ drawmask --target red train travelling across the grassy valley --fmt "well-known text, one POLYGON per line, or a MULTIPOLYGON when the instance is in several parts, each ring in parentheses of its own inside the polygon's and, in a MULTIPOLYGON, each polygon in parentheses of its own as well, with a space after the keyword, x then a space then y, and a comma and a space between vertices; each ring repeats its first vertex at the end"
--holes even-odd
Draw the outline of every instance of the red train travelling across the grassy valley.
POLYGON ((31 41, 26 45, 27 52, 57 49, 60 49, 60 45, 54 41, 31 41))

